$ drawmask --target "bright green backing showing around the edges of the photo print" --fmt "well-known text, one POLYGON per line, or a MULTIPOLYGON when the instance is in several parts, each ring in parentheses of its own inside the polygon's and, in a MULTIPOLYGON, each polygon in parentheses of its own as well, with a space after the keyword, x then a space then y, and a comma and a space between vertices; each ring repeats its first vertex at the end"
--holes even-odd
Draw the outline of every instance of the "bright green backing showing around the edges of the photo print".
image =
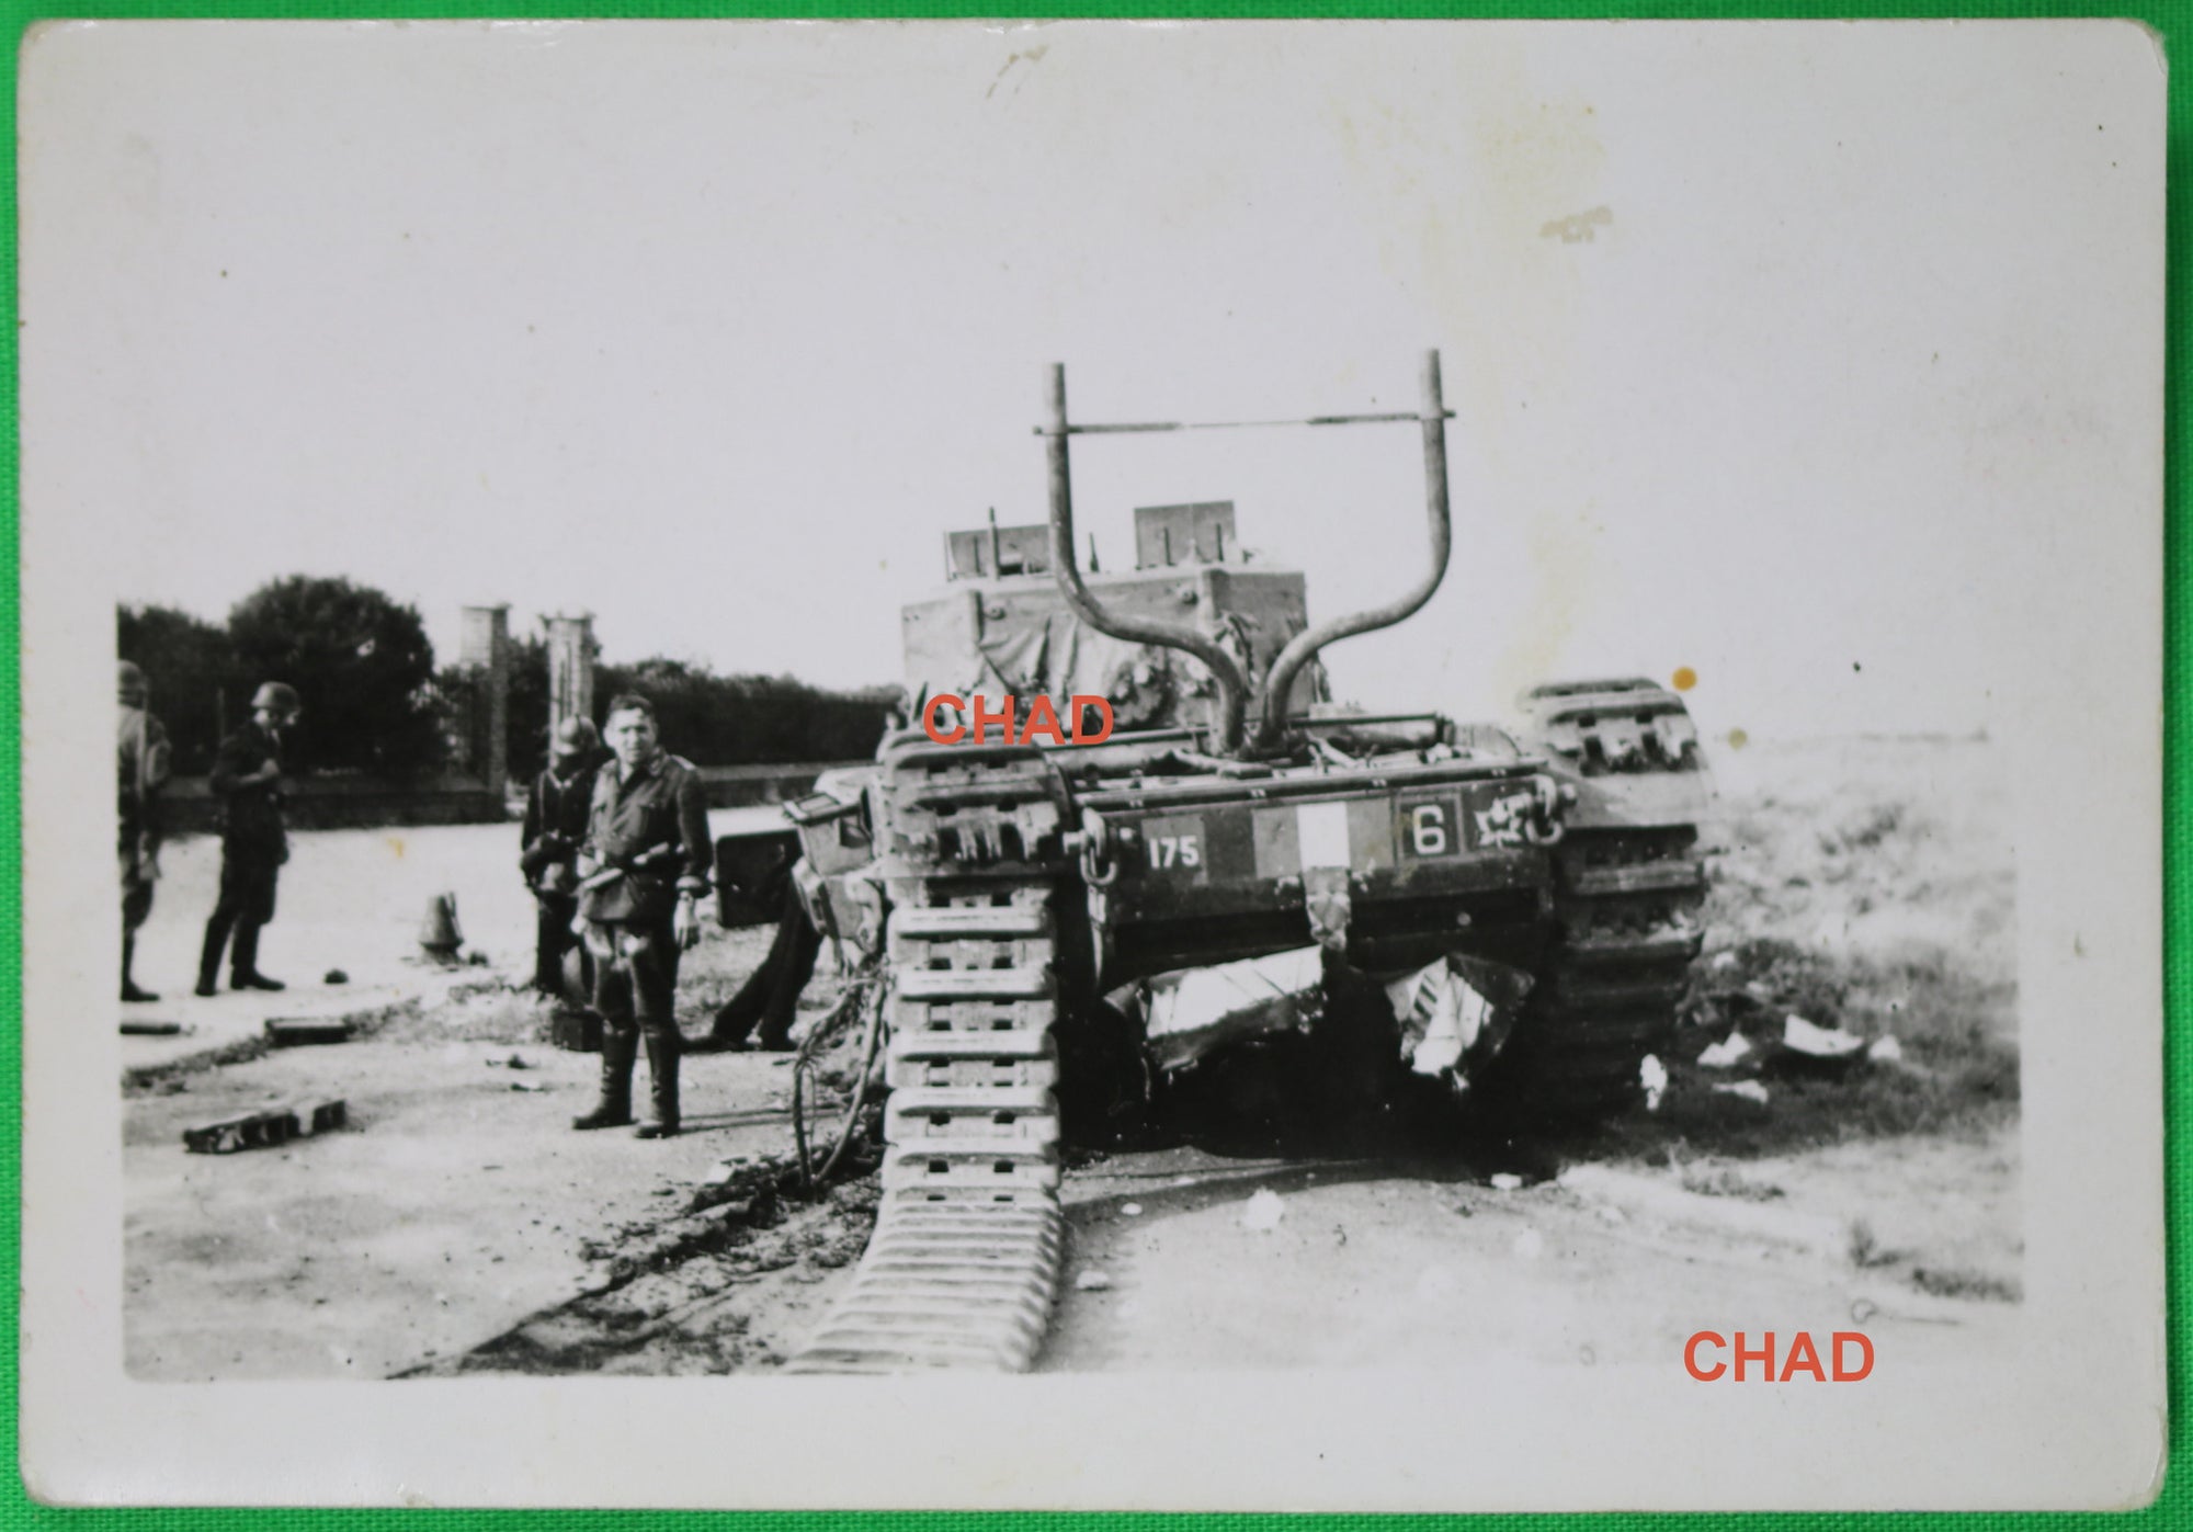
MULTIPOLYGON (((761 18, 811 18, 811 15, 857 15, 857 18, 1798 18, 1798 20, 1842 20, 1842 18, 1932 18, 1932 15, 1987 15, 1987 18, 2050 18, 2050 15, 2129 15, 2162 33, 2164 46, 2178 55, 2178 40, 2193 35, 2193 0, 2184 4, 2145 7, 2079 7, 2079 4, 1875 4, 1868 0, 1844 0, 1842 4, 1629 4, 1607 7, 1577 0, 1546 0, 1539 4, 1478 4, 1456 7, 1436 0, 1296 0, 1294 4, 1246 4, 1241 0, 1171 0, 1171 2, 1103 2, 1081 4, 1026 2, 1013 9, 954 0, 746 0, 743 4, 695 4, 693 0, 625 2, 610 0, 388 0, 386 4, 311 4, 294 0, 228 0, 226 4, 193 4, 189 0, 110 0, 107 4, 35 4, 24 0, 0 0, 7 15, 9 37, 20 46, 22 33, 42 20, 55 18, 711 18, 711 15, 761 15, 761 18)), ((2169 83, 2169 151, 2171 162, 2186 160, 2189 134, 2193 134, 2193 66, 2173 57, 2169 83)), ((0 77, 0 103, 7 121, 15 121, 15 72, 0 77)), ((4 380, 7 432, 0 435, 0 726, 7 731, 9 748, 0 755, 0 1012, 9 1018, 0 1027, 0 1260, 4 1260, 4 1282, 0 1282, 0 1453, 9 1464, 18 1460, 15 1431, 15 1345, 18 1345, 18 1273, 20 1273, 20 1190, 22 1190, 22 766, 20 766, 20 647, 18 647, 18 514, 20 514, 20 437, 15 395, 15 334, 18 334, 18 290, 15 290, 15 160, 9 156, 4 195, 4 226, 0 226, 0 261, 7 266, 4 318, 0 325, 0 380, 4 380)), ((2193 593, 2189 593, 2189 527, 2186 489, 2186 345, 2182 316, 2186 298, 2193 296, 2193 266, 2186 257, 2189 202, 2180 176, 2171 176, 2169 189, 2169 336, 2167 336, 2167 399, 2164 441, 2169 443, 2167 492, 2167 612, 2164 612, 2164 1091, 2167 1091, 2167 1225, 2169 1225, 2169 1334, 2171 1334, 2171 1473, 2162 1497, 2140 1512, 2110 1517, 2090 1514, 1592 1514, 1592 1517, 1270 1517, 1270 1514, 1222 1514, 1222 1517, 1175 1517, 1175 1514, 976 1514, 976 1512, 890 1512, 890 1514, 831 1514, 831 1512, 502 1512, 502 1510, 59 1510, 35 1503, 22 1486, 22 1475, 11 1473, 0 1486, 0 1532, 22 1532, 29 1528, 68 1528, 70 1532, 206 1532, 211 1528, 252 1528, 259 1532, 390 1532, 404 1528, 445 1528, 447 1532, 515 1532, 535 1528, 539 1532, 577 1532, 614 1523, 621 1532, 680 1528, 686 1532, 704 1523, 737 1523, 743 1530, 820 1530, 857 1528, 860 1532, 991 1532, 1002 1528, 1044 1528, 1046 1532, 1158 1532, 1160 1528, 1195 1528, 1197 1532, 1248 1532, 1250 1528, 1287 1528, 1287 1532, 1327 1532, 1347 1528, 1349 1532, 1382 1532, 1386 1528, 1421 1528, 1428 1523, 1463 1523, 1472 1528, 1531 1525, 1533 1530, 1590 1528, 1594 1532, 1645 1532, 1647 1528, 1680 1528, 1715 1523, 1732 1532, 1743 1528, 1827 1530, 1827 1528, 1969 1528, 1972 1532, 2009 1532, 2011 1528, 2059 1528, 2092 1523, 2125 1528, 2193 1528, 2193 1409, 2186 1389, 2186 1343, 2193 1339, 2193 1299, 2186 1286, 2186 1240, 2193 1236, 2193 1146, 2186 1141, 2186 1113, 2193 1111, 2193 1062, 2189 1062, 2182 1027, 2186 1023, 2186 983, 2193 972, 2193 957, 2186 950, 2186 858, 2193 854, 2193 799, 2186 795, 2184 766, 2189 716, 2180 707, 2186 683, 2186 652, 2193 641, 2193 593)), ((129 1453, 127 1440, 112 1444, 116 1455, 129 1453)), ((735 1444, 726 1442, 726 1451, 735 1444)), ((846 1444, 849 1455, 857 1444, 846 1444)), ((1711 1451, 1702 1444, 1702 1455, 1711 1451)))

